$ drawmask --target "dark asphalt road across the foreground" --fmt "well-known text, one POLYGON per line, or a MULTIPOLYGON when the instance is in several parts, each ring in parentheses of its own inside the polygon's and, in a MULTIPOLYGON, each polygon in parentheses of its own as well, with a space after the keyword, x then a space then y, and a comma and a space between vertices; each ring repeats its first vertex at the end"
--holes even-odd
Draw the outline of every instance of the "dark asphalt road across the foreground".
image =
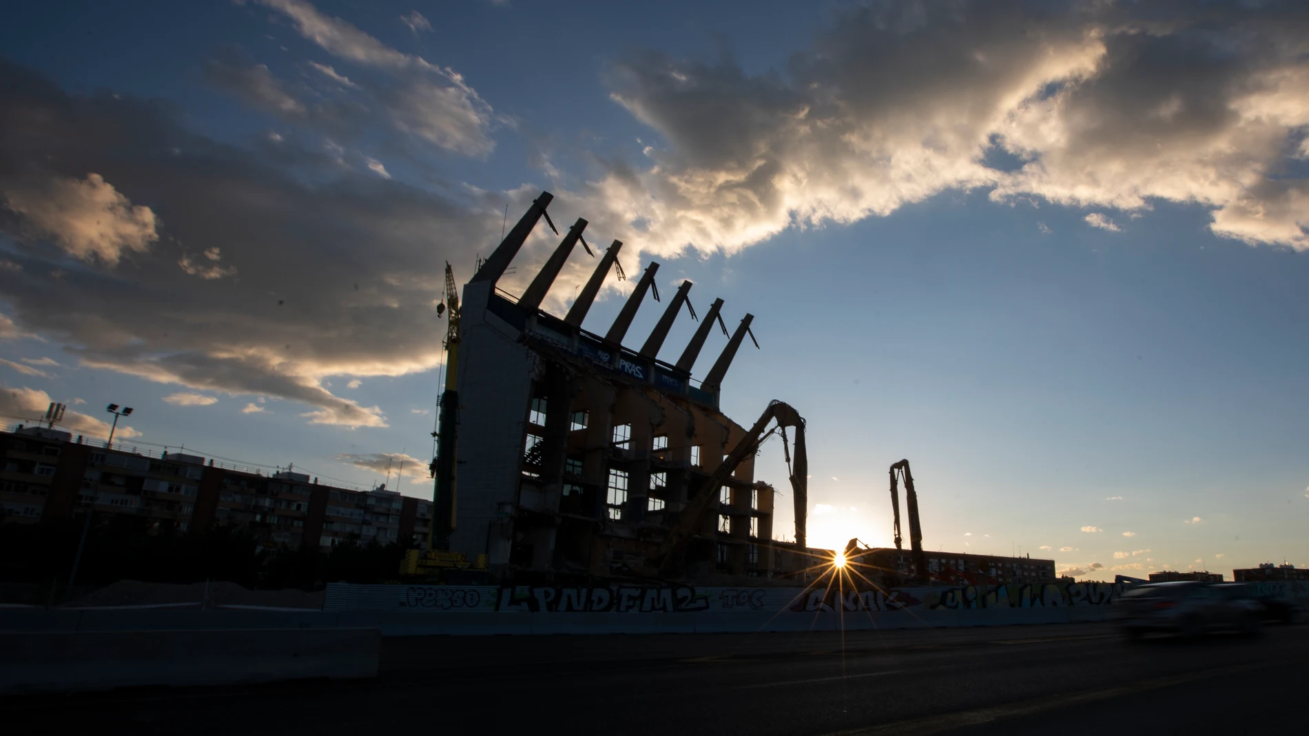
POLYGON ((5 733, 1305 732, 1309 626, 386 639, 377 680, 0 701, 5 733))

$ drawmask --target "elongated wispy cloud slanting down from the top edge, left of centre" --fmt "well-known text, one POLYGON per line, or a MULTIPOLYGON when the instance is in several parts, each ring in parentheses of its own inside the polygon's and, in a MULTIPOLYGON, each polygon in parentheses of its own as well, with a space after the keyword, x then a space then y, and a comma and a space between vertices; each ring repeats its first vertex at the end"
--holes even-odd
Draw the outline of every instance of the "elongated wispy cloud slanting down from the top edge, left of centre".
POLYGON ((365 92, 385 107, 395 128, 467 156, 495 149, 490 137, 493 111, 456 71, 391 48, 304 0, 257 1, 287 16, 300 35, 332 56, 384 72, 385 81, 368 85, 365 92))

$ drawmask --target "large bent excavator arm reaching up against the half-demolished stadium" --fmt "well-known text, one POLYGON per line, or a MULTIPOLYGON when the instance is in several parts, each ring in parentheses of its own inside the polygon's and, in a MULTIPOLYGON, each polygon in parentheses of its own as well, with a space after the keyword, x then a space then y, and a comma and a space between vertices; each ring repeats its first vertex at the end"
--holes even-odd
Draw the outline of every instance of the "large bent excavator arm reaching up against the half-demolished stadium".
POLYGON ((745 437, 741 438, 741 442, 737 442, 726 459, 723 460, 723 464, 709 473, 708 480, 687 499, 686 509, 678 515, 677 524, 669 529, 668 536, 664 537, 664 541, 660 543, 658 548, 651 556, 651 560, 658 566, 658 573, 662 577, 668 577, 681 566, 686 545, 704 526, 704 519, 711 511, 711 505, 717 498, 719 486, 736 472, 742 460, 755 454, 763 441, 774 433, 781 434, 781 448, 787 459, 787 469, 791 472, 791 489, 795 493, 796 506, 796 546, 805 549, 805 511, 808 509, 809 489, 809 455, 805 450, 805 420, 789 404, 775 400, 768 403, 768 408, 763 410, 759 421, 754 422, 754 426, 746 430, 745 437), (774 421, 778 425, 764 434, 764 430, 774 421), (787 427, 792 427, 796 435, 795 463, 792 463, 792 452, 787 447, 787 427))

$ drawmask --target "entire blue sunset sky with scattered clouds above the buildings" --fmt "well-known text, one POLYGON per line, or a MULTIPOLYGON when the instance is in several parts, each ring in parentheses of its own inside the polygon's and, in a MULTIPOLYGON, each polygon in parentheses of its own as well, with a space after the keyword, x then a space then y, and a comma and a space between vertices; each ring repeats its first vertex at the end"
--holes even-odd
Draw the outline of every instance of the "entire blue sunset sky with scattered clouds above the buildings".
MULTIPOLYGON (((437 315, 541 191, 753 314, 809 540, 1309 565, 1302 3, 46 3, 0 26, 0 414, 429 497, 437 315), (404 461, 404 477, 399 464, 404 461), (399 481, 397 484, 397 480, 399 481)), ((521 292, 538 227, 501 281, 521 292)), ((575 251, 546 307, 592 268, 575 251)), ((610 278, 603 331, 631 281, 610 278)), ((661 306, 645 303, 630 335, 661 306)), ((695 324, 685 316, 668 354, 695 324)), ((711 337, 702 363, 725 343, 711 337)), ((775 531, 792 536, 780 448, 775 531)))

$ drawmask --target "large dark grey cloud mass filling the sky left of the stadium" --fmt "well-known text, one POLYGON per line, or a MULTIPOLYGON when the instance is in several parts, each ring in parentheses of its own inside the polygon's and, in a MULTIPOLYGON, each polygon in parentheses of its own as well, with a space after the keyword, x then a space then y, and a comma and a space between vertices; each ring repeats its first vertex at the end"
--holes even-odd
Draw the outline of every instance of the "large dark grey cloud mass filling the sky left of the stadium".
MULTIPOLYGON (((17 209, 34 213, 12 199, 0 209, 0 235, 14 237, 14 268, 0 268, 5 332, 41 335, 84 367, 297 401, 317 424, 386 426, 380 407, 325 383, 439 366, 442 263, 470 269, 505 200, 521 212, 538 191, 433 193, 289 139, 242 150, 190 132, 168 105, 68 95, 0 61, 0 192, 22 192, 17 209), (42 192, 54 204, 38 207, 42 192), (37 225, 63 239, 30 237, 37 225), (71 268, 69 252, 92 255, 71 268), (130 282, 114 267, 128 255, 130 282), (234 264, 240 275, 204 277, 234 264)), ((520 271, 548 241, 529 242, 520 271)))

